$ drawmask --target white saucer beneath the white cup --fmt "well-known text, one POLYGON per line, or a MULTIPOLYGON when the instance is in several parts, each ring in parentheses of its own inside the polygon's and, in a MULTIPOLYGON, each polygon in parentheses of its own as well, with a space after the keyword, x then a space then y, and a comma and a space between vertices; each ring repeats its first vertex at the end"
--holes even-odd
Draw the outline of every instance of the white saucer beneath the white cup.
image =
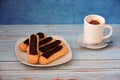
POLYGON ((105 39, 103 40, 103 42, 101 42, 100 44, 87 44, 84 39, 83 39, 83 34, 80 35, 78 38, 77 38, 77 44, 79 46, 83 46, 83 47, 86 47, 86 48, 89 48, 89 49, 101 49, 101 48, 104 48, 106 46, 108 46, 109 44, 109 39, 105 39))

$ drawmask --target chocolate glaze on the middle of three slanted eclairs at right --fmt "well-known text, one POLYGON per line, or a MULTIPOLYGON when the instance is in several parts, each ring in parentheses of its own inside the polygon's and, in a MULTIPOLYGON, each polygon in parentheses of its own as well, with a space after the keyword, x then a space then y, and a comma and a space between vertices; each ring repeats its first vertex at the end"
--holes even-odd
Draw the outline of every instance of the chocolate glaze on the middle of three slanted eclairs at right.
POLYGON ((44 53, 47 50, 52 49, 55 46, 58 46, 60 43, 61 43, 60 40, 56 40, 56 41, 54 41, 52 43, 49 43, 49 44, 47 44, 45 46, 40 47, 39 50, 44 53))

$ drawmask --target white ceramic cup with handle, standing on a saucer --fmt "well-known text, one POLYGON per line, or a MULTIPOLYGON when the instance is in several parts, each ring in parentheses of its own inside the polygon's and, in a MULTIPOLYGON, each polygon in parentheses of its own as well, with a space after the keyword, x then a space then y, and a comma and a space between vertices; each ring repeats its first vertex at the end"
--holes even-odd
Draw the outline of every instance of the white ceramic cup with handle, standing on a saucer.
POLYGON ((84 18, 84 41, 88 44, 99 44, 104 39, 112 35, 113 29, 110 25, 105 24, 105 19, 99 15, 88 15, 84 18), (91 24, 91 20, 97 20, 100 24, 91 24), (104 35, 105 28, 109 29, 109 34, 104 35))

